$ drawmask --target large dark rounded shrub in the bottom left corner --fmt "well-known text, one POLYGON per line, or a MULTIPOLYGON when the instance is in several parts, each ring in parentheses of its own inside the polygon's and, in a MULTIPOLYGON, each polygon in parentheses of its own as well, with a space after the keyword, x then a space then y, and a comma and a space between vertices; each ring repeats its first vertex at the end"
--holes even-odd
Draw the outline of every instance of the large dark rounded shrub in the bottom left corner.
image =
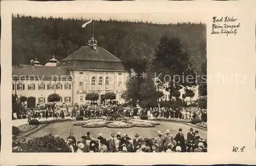
POLYGON ((52 134, 30 139, 20 149, 20 152, 71 152, 63 138, 52 134))

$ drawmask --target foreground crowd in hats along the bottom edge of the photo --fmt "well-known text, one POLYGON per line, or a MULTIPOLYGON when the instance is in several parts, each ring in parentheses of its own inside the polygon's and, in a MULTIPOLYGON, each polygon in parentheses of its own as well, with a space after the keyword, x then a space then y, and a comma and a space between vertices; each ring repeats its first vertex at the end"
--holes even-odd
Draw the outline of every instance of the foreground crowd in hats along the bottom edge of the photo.
POLYGON ((73 133, 70 133, 66 140, 71 152, 76 153, 107 153, 107 152, 207 152, 207 140, 199 135, 199 131, 194 132, 190 128, 186 135, 179 129, 173 136, 167 129, 165 135, 161 131, 157 132, 155 138, 141 138, 139 133, 135 133, 134 138, 127 134, 111 133, 109 138, 103 134, 98 137, 91 137, 91 133, 83 135, 76 140, 73 133))

